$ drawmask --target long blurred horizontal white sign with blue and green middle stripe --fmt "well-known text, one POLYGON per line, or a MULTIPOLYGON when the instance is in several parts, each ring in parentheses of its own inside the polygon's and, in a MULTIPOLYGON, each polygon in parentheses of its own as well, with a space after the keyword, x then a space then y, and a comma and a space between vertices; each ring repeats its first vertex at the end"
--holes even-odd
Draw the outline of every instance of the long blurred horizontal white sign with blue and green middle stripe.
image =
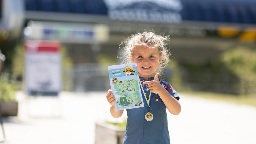
POLYGON ((29 21, 24 35, 29 40, 58 40, 62 43, 104 43, 109 28, 103 24, 29 21))

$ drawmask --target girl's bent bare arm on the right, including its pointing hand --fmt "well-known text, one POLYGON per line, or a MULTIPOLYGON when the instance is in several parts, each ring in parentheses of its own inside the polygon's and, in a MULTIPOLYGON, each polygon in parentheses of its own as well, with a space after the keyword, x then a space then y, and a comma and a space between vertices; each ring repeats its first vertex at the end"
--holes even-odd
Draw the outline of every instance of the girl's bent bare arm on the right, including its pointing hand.
POLYGON ((143 84, 148 84, 148 87, 152 93, 158 93, 163 100, 168 111, 173 115, 178 115, 181 112, 181 105, 177 99, 171 96, 171 94, 160 84, 158 79, 158 73, 155 76, 155 81, 145 81, 143 84))

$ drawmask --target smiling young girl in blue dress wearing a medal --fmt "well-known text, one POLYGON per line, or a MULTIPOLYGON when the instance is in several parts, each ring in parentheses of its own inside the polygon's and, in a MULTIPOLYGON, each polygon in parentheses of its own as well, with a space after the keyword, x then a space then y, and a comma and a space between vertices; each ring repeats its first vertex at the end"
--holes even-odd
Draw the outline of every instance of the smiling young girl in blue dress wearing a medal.
MULTIPOLYGON (((143 32, 130 36, 122 43, 125 45, 122 63, 137 63, 145 103, 145 107, 126 110, 128 118, 123 144, 170 143, 166 108, 171 114, 178 115, 181 105, 177 92, 159 78, 170 57, 165 40, 168 37, 143 32)), ((111 115, 121 117, 123 110, 115 110, 116 100, 111 90, 108 90, 106 97, 111 105, 111 115)))

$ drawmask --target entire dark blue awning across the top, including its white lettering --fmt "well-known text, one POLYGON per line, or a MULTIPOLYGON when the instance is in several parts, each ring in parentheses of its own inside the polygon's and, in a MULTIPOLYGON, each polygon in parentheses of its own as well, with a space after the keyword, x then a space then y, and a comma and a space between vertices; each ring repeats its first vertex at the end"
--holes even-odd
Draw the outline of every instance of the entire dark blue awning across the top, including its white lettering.
POLYGON ((79 13, 103 16, 108 15, 111 19, 115 20, 124 18, 122 19, 122 21, 152 22, 150 18, 155 16, 160 17, 160 19, 153 18, 156 22, 162 22, 163 20, 163 22, 167 23, 179 23, 181 21, 210 21, 224 23, 256 24, 256 0, 25 1, 27 11, 79 13), (138 19, 134 17, 138 17, 138 19), (165 18, 167 20, 165 20, 165 18), (172 18, 180 20, 170 20, 172 18))

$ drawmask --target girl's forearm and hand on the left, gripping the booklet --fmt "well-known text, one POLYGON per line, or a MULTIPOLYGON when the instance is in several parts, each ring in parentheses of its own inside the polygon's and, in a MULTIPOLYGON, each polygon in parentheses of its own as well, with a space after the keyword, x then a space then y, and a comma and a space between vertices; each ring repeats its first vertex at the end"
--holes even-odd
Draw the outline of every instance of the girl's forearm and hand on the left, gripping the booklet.
POLYGON ((107 100, 108 100, 108 103, 111 105, 110 113, 111 113, 112 117, 114 117, 114 118, 121 117, 123 114, 123 110, 116 111, 115 106, 114 106, 116 99, 111 90, 108 90, 107 100))

